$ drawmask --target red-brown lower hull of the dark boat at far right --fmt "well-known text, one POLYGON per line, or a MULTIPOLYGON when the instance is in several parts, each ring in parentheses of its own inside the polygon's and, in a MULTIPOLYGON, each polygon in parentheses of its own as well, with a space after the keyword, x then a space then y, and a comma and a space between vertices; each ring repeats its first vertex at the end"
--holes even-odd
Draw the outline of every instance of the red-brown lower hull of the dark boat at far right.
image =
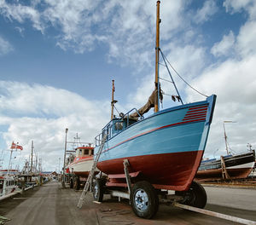
MULTIPOLYGON (((227 172, 231 179, 241 179, 247 178, 253 168, 236 168, 236 169, 227 169, 227 172)), ((195 178, 199 181, 211 181, 222 179, 222 170, 200 170, 197 171, 195 178)))

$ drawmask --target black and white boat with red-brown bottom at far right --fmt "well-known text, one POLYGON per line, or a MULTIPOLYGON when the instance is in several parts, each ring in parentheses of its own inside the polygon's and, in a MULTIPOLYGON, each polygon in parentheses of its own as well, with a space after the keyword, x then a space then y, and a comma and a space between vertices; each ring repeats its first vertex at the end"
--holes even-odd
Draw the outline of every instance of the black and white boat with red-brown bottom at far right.
MULTIPOLYGON (((224 164, 230 179, 247 178, 255 165, 255 152, 227 155, 224 164)), ((195 178, 199 181, 219 180, 223 177, 221 159, 207 159, 201 161, 201 165, 195 178)))

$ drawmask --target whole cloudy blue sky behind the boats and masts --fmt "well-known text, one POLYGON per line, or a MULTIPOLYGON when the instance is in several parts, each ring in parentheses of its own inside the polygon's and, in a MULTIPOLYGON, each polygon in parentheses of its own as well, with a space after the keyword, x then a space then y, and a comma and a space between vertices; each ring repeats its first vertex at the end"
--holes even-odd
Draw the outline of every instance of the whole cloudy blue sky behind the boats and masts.
MULTIPOLYGON (((113 79, 119 113, 143 106, 154 89, 155 11, 153 0, 0 0, 3 169, 12 141, 23 147, 13 169, 33 141, 44 170, 58 171, 66 128, 67 141, 78 133, 93 142, 110 120, 113 79)), ((160 18, 168 61, 195 89, 217 95, 204 156, 225 154, 224 125, 232 153, 255 148, 256 2, 162 0, 160 18)), ((171 72, 185 103, 205 99, 171 72)), ((170 79, 161 65, 160 78, 170 79)), ((172 84, 161 87, 160 109, 180 104, 172 84)))

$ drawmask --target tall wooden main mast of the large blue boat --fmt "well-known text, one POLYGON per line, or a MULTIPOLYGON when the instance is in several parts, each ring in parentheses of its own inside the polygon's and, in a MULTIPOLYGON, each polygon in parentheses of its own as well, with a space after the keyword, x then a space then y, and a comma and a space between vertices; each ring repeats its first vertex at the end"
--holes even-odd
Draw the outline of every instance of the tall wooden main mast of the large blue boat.
POLYGON ((156 3, 156 38, 155 38, 155 89, 157 89, 156 101, 154 101, 154 113, 159 111, 159 46, 160 46, 160 1, 156 3))

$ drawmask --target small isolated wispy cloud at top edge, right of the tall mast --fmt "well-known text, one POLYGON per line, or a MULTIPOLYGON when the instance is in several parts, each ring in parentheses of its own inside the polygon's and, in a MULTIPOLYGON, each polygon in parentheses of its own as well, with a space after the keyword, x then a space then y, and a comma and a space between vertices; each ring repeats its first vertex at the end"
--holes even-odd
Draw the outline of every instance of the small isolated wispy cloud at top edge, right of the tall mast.
POLYGON ((210 19, 210 17, 218 11, 216 3, 212 0, 207 0, 201 9, 198 9, 194 21, 197 24, 203 23, 210 19))

